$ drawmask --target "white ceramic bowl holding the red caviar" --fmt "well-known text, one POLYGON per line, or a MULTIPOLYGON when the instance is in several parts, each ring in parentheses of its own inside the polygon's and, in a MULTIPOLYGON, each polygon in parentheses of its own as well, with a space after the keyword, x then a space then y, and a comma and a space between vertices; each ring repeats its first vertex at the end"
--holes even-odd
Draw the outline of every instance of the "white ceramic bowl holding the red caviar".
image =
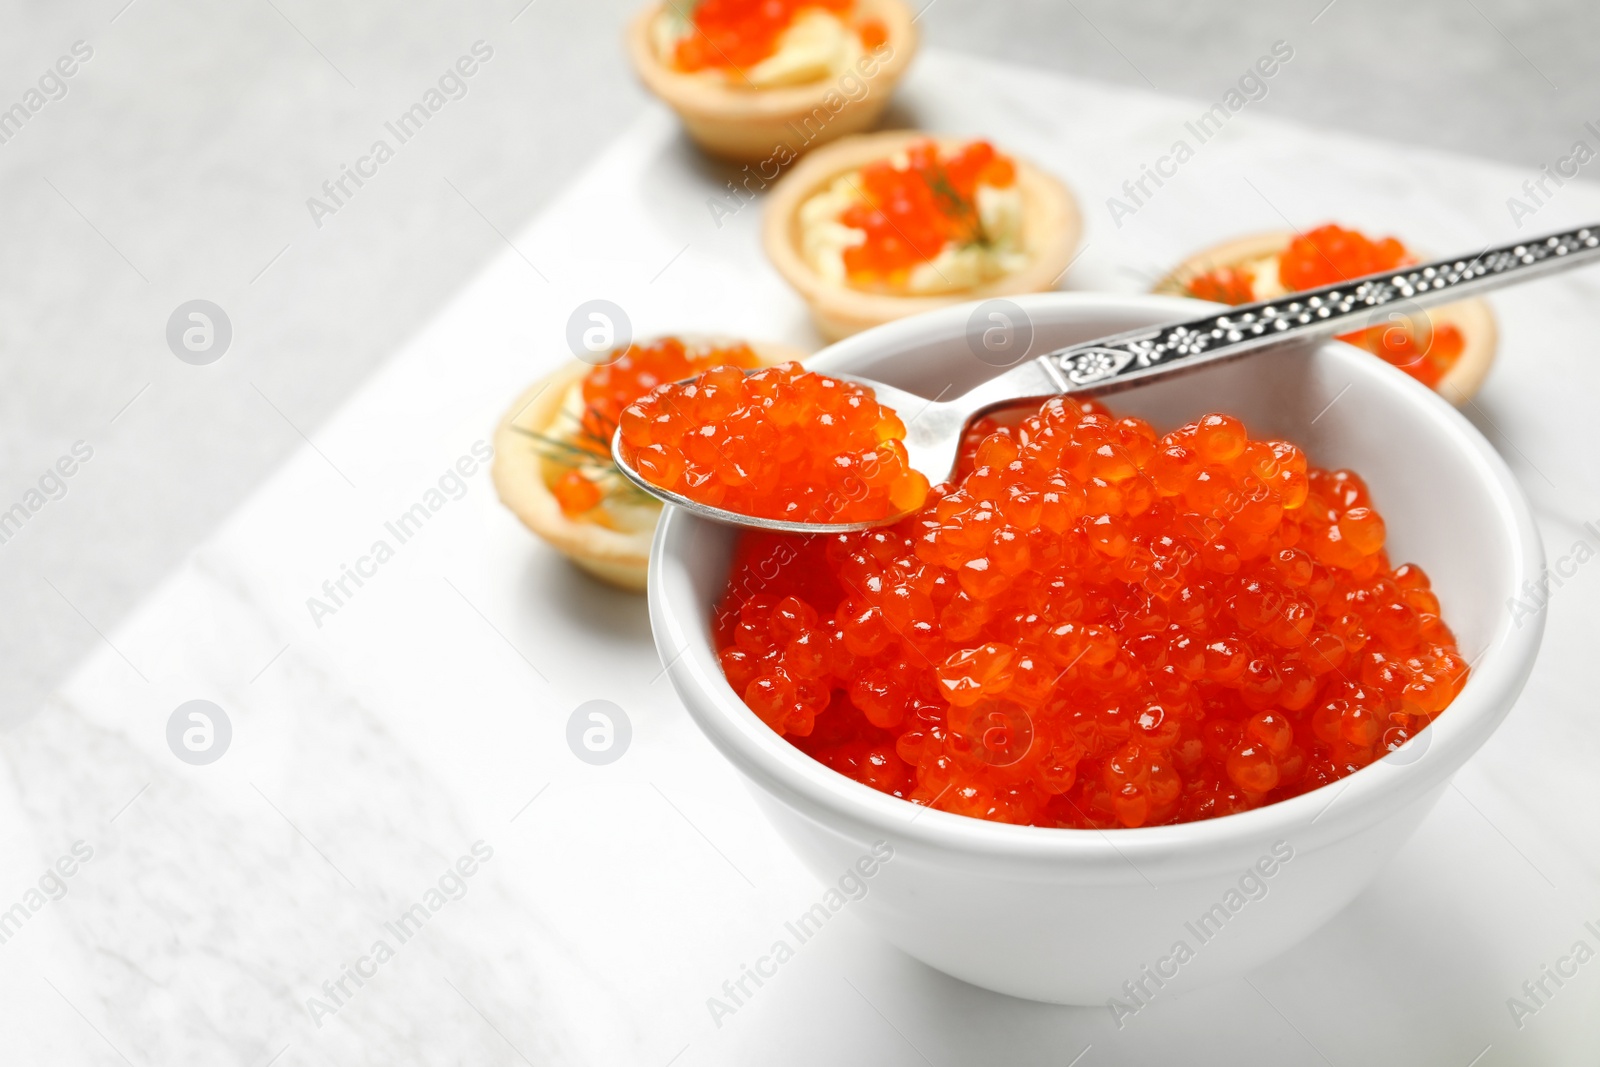
MULTIPOLYGON (((1069 293, 1013 301, 1032 318, 1035 352, 1202 307, 1069 293)), ((811 366, 954 394, 995 373, 966 344, 971 312, 949 307, 870 330, 811 366)), ((1544 558, 1528 504, 1483 437, 1434 392, 1346 344, 1251 357, 1109 403, 1158 430, 1227 411, 1253 437, 1283 437, 1317 466, 1358 470, 1387 518, 1390 557, 1432 576, 1445 619, 1477 664, 1456 702, 1387 760, 1243 814, 1107 832, 1005 825, 861 785, 744 707, 723 680, 709 624, 726 584, 731 530, 667 509, 650 565, 650 614, 690 713, 824 883, 837 883, 874 841, 890 843, 893 859, 866 881, 853 913, 976 985, 1126 1013, 1262 963, 1371 881, 1522 691, 1542 617, 1518 627, 1506 605, 1544 558)))

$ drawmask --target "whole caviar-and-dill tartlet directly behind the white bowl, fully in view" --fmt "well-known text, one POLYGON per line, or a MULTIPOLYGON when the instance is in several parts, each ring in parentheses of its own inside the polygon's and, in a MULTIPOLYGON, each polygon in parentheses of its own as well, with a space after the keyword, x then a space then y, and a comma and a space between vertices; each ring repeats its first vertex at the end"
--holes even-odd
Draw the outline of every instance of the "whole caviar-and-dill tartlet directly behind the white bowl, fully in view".
POLYGON ((811 154, 762 240, 829 341, 962 301, 1054 288, 1082 232, 1061 181, 987 141, 888 131, 811 154))

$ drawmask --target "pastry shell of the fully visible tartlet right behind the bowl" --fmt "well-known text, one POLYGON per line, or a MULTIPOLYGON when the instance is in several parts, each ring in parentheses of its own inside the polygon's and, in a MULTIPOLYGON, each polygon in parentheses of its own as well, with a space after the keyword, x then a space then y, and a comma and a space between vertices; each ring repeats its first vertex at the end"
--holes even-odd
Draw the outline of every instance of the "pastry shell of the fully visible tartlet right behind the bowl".
POLYGON ((1016 293, 1043 293, 1056 286, 1072 262, 1072 253, 1083 232, 1077 200, 1059 179, 1013 155, 1016 181, 1022 190, 1022 243, 1029 250, 1029 262, 1021 270, 971 290, 936 296, 867 293, 835 285, 818 275, 800 253, 800 205, 845 171, 894 155, 912 141, 930 136, 941 150, 958 149, 970 141, 970 138, 933 136, 917 130, 890 130, 835 141, 800 160, 778 181, 766 200, 762 219, 766 256, 784 280, 805 298, 818 331, 829 341, 950 304, 1016 293))

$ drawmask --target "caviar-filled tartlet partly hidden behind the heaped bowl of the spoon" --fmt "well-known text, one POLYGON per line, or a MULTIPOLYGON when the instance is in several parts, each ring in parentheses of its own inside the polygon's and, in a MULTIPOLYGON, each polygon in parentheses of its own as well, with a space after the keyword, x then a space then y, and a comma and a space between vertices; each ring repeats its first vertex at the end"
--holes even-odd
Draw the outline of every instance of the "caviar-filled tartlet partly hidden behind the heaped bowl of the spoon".
POLYGON ((643 592, 661 504, 611 462, 624 408, 662 382, 714 366, 800 358, 781 344, 658 338, 605 363, 573 360, 530 386, 494 430, 494 490, 528 530, 613 585, 643 592))

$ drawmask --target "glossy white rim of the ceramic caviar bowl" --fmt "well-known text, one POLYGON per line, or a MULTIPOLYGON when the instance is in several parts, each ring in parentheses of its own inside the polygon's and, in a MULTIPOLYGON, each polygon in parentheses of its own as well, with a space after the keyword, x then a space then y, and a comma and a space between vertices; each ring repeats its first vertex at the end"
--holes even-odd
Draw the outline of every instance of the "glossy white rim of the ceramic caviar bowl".
MULTIPOLYGON (((1042 293, 1013 298, 1018 304, 1070 310, 1110 310, 1134 315, 1173 312, 1173 318, 1205 307, 1205 301, 1150 294, 1042 293)), ((902 318, 840 341, 810 362, 813 370, 843 371, 866 354, 894 347, 918 347, 931 336, 960 338, 966 317, 976 302, 946 307, 925 315, 902 318)), ((1154 320, 1160 322, 1160 318, 1154 320)), ((1544 565, 1544 547, 1531 509, 1506 461, 1478 430, 1442 397, 1371 354, 1330 341, 1352 374, 1365 374, 1392 394, 1398 394, 1424 421, 1432 434, 1445 437, 1470 461, 1478 485, 1494 502, 1507 542, 1512 545, 1509 587, 1520 589, 1544 565)), ((1195 371, 1195 373, 1205 373, 1195 371)), ((709 640, 709 605, 699 617, 693 590, 670 553, 682 539, 691 537, 704 520, 667 507, 656 528, 650 560, 650 616, 656 646, 674 688, 706 736, 747 777, 776 793, 790 808, 835 830, 845 827, 866 840, 893 837, 896 843, 918 843, 936 849, 963 853, 982 859, 1011 861, 1083 861, 1120 864, 1131 859, 1168 859, 1195 853, 1230 856, 1242 846, 1286 837, 1323 843, 1347 837, 1384 819, 1389 811, 1442 785, 1499 726, 1522 691, 1544 633, 1544 614, 1531 624, 1512 625, 1510 613, 1498 613, 1498 622, 1467 686, 1429 728, 1426 758, 1406 765, 1382 758, 1330 782, 1320 789, 1253 808, 1238 814, 1197 822, 1157 827, 1075 830, 992 822, 952 814, 882 793, 856 782, 781 737, 728 686, 709 640), (1334 808, 1338 817, 1323 822, 1320 814, 1334 808)), ((706 523, 709 525, 709 523, 706 523)), ((1422 736, 1422 734, 1419 734, 1422 736)))

